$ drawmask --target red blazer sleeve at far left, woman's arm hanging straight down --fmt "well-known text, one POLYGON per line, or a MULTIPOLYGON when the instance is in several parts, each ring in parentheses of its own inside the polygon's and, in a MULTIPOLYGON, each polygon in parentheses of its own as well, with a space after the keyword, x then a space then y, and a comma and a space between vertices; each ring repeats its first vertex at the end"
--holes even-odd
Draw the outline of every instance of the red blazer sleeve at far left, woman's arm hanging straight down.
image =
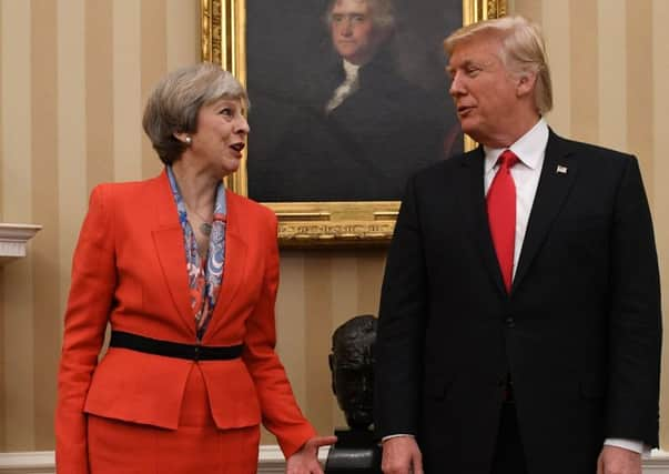
POLYGON ((59 473, 89 472, 83 405, 98 364, 116 281, 113 229, 104 192, 104 186, 97 186, 91 193, 72 260, 55 409, 59 473))

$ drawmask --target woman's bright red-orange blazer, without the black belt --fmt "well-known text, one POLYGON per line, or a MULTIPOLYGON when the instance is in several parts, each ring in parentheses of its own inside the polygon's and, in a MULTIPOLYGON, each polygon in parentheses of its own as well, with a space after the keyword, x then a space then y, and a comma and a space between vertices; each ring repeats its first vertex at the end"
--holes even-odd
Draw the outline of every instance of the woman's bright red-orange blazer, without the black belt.
MULTIPOLYGON (((286 456, 315 434, 297 407, 274 352, 278 284, 276 218, 226 193, 223 283, 204 345, 244 344, 241 359, 200 361, 221 430, 261 422, 286 456)), ((87 418, 176 428, 195 362, 110 347, 113 330, 195 343, 183 233, 168 175, 101 184, 90 199, 72 263, 55 414, 59 472, 88 472, 87 418)))

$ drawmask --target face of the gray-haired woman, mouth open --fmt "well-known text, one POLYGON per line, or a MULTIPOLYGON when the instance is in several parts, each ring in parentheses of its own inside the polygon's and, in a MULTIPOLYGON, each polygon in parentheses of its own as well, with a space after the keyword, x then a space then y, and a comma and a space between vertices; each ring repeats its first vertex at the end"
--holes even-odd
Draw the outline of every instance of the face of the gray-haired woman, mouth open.
POLYGON ((191 134, 190 154, 214 175, 226 177, 240 168, 249 122, 241 99, 220 99, 202 105, 197 132, 191 134))

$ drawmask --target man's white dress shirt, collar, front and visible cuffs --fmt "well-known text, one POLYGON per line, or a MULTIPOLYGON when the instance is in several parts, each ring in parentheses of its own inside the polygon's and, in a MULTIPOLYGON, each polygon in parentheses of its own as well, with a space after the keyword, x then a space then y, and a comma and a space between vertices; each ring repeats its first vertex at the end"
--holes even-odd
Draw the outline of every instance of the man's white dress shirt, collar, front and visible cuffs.
MULTIPOLYGON (((508 147, 508 150, 511 150, 516 157, 518 157, 518 162, 510 169, 511 177, 514 178, 514 182, 516 184, 516 242, 514 248, 514 276, 516 275, 516 268, 518 266, 520 251, 523 250, 523 241, 525 240, 525 233, 527 232, 529 214, 531 212, 531 206, 535 201, 537 188, 539 185, 539 178, 541 177, 541 168, 544 165, 547 144, 548 125, 544 119, 539 119, 535 127, 520 137, 515 143, 508 147)), ((504 150, 507 149, 484 147, 484 190, 486 195, 488 194, 493 179, 495 178, 497 169, 499 168, 499 164, 497 164, 497 159, 504 150)), ((396 436, 407 435, 395 434, 384 436, 383 441, 396 436)), ((650 452, 648 446, 645 446, 642 442, 636 440, 611 437, 606 438, 604 444, 624 447, 637 453, 650 452)))

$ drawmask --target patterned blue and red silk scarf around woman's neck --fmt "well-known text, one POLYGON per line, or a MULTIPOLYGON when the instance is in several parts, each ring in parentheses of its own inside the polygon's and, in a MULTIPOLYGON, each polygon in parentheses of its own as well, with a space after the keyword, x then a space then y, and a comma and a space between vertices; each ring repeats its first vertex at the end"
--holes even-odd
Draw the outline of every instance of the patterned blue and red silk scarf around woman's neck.
POLYGON ((197 340, 201 341, 216 306, 216 299, 223 283, 226 226, 225 188, 223 186, 223 181, 216 188, 214 221, 209 240, 209 251, 206 259, 201 259, 197 252, 197 240, 189 222, 185 203, 179 192, 179 185, 176 184, 172 167, 168 165, 166 169, 172 195, 174 196, 176 211, 179 212, 179 222, 183 230, 191 307, 197 327, 197 340))

